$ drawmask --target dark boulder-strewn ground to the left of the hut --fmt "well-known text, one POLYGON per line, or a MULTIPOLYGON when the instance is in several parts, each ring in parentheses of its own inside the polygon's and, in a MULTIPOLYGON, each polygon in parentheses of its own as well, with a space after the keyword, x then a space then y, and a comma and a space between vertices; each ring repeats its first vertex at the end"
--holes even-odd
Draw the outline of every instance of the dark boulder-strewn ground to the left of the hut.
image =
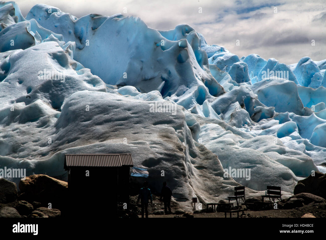
POLYGON ((17 191, 15 183, 1 178, 0 217, 60 217, 67 188, 67 182, 37 174, 21 180, 17 191))

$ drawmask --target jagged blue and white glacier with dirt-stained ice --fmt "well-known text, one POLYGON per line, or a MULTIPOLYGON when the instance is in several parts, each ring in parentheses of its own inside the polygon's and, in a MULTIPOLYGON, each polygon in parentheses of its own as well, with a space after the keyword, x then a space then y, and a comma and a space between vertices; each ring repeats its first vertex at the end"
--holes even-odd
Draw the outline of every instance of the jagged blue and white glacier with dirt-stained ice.
POLYGON ((326 59, 239 57, 186 24, 159 31, 44 4, 24 18, 0 2, 0 30, 0 168, 65 180, 64 154, 131 153, 153 192, 164 178, 185 209, 240 184, 252 197, 267 185, 290 196, 326 172, 326 59), (250 180, 225 177, 230 167, 250 180))

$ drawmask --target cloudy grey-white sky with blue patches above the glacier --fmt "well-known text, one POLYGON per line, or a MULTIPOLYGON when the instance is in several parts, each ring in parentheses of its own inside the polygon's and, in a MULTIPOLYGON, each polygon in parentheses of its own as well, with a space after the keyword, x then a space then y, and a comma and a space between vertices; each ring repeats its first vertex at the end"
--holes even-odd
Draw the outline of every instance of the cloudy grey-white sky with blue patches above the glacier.
POLYGON ((208 44, 239 57, 255 53, 286 64, 309 56, 326 58, 324 0, 17 0, 25 17, 36 4, 60 8, 76 17, 89 13, 139 16, 149 27, 173 29, 189 24, 208 44), (323 3, 324 2, 324 3, 323 3), (201 13, 200 13, 201 9, 201 13), (124 10, 126 13, 124 13, 124 10), (237 46, 236 42, 240 42, 237 46), (312 40, 315 46, 312 46, 312 40))

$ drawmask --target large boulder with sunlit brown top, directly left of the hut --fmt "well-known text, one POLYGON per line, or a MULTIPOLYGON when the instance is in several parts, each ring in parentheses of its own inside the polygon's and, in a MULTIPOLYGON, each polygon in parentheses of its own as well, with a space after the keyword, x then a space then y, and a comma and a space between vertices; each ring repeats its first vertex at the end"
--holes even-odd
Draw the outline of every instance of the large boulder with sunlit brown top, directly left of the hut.
POLYGON ((43 206, 51 203, 53 208, 60 210, 66 206, 68 183, 43 174, 31 175, 21 180, 19 189, 22 194, 19 200, 40 202, 43 206))

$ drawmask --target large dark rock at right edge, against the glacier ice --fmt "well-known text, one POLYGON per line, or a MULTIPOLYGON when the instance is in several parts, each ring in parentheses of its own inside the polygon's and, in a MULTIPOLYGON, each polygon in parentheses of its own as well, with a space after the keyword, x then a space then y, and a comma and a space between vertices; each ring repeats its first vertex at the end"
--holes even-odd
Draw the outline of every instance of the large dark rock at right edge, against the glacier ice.
POLYGON ((326 199, 326 174, 316 171, 315 176, 309 175, 309 177, 299 180, 293 193, 294 195, 311 193, 326 199))

